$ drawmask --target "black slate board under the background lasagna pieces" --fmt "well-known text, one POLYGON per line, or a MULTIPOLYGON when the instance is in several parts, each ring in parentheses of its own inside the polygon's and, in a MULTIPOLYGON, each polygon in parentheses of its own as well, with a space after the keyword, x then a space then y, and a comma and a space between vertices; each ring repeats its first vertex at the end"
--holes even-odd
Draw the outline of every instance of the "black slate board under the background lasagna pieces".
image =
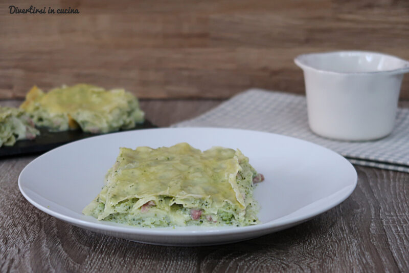
MULTIPOLYGON (((137 124, 137 127, 135 128, 122 131, 140 130, 148 128, 157 128, 157 126, 152 124, 149 120, 145 120, 144 123, 137 124)), ((13 146, 0 147, 0 157, 4 158, 7 156, 47 152, 65 143, 98 135, 84 133, 81 130, 49 132, 45 128, 40 128, 39 131, 40 135, 37 136, 34 140, 19 140, 13 146)))

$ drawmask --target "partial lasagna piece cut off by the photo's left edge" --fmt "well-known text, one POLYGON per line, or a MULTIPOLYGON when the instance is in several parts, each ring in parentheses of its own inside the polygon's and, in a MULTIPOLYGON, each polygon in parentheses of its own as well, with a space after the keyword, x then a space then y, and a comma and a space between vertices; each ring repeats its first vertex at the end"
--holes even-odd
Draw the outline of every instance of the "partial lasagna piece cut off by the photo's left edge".
POLYGON ((40 132, 23 110, 0 107, 0 147, 12 146, 17 140, 34 139, 40 132))

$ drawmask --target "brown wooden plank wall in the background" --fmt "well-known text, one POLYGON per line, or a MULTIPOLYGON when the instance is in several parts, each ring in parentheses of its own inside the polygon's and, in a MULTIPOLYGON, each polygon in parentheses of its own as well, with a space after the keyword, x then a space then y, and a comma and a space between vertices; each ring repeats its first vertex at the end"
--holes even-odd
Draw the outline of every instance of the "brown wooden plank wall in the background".
MULTIPOLYGON (((0 4, 0 98, 89 82, 141 98, 304 92, 301 53, 372 50, 409 59, 409 1, 32 1, 0 4), (29 4, 27 4, 29 3, 29 4), (80 14, 9 14, 77 8, 80 14)), ((401 98, 409 99, 409 76, 401 98)))

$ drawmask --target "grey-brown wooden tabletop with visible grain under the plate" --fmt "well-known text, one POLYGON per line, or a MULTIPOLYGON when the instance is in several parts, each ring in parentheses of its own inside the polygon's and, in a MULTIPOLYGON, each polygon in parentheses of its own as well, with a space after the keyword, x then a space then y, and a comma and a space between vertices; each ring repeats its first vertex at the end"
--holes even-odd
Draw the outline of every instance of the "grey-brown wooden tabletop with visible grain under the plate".
MULTIPOLYGON (((144 100, 160 125, 220 100, 144 100)), ((0 104, 17 105, 17 101, 0 104)), ((17 178, 36 156, 0 160, 0 271, 409 271, 409 174, 355 166, 358 184, 342 204, 282 232, 240 243, 165 247, 74 227, 31 205, 17 178)))

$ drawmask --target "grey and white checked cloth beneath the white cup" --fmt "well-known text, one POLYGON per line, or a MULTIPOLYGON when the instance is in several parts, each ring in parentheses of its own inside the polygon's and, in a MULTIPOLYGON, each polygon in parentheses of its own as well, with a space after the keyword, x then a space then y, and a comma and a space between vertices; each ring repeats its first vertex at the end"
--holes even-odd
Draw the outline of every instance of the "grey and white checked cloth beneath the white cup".
POLYGON ((308 127, 304 96, 251 89, 173 127, 223 127, 276 133, 325 146, 351 163, 409 173, 409 109, 398 109, 394 131, 377 141, 335 141, 308 127))

